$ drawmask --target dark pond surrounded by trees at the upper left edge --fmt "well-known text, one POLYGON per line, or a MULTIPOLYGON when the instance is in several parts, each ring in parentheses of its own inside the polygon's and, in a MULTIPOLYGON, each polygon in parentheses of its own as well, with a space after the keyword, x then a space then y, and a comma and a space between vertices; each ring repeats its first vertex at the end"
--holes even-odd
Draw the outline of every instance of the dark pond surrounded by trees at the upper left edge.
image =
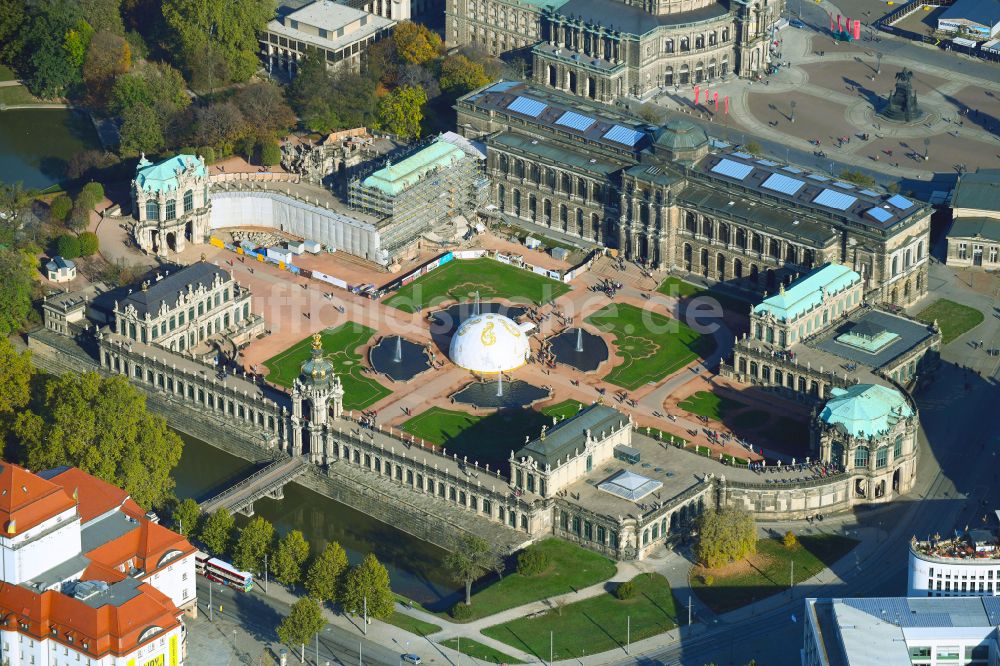
POLYGON ((80 111, 0 111, 0 181, 45 189, 66 180, 70 157, 100 147, 94 126, 80 111))

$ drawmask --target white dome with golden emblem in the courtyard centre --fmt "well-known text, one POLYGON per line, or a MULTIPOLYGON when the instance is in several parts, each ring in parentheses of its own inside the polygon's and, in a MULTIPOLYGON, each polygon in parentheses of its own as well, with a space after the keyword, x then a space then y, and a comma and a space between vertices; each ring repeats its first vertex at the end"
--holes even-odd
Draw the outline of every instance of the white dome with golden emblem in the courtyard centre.
POLYGON ((528 362, 528 331, 534 324, 518 324, 500 314, 482 314, 462 322, 451 339, 452 363, 482 374, 520 368, 528 362))

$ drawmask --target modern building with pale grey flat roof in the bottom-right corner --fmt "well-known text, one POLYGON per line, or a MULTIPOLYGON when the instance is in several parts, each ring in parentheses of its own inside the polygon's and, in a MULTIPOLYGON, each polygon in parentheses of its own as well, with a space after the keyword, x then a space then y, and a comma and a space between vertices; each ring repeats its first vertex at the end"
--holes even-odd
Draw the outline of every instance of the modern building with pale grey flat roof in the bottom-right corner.
POLYGON ((996 666, 1000 599, 806 599, 802 666, 996 666))

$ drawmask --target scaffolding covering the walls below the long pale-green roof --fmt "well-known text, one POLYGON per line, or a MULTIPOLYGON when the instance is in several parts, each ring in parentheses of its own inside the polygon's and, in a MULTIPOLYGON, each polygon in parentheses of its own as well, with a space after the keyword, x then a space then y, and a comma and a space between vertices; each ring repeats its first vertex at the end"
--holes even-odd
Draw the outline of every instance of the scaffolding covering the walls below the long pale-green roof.
MULTIPOLYGON (((421 154, 438 143, 425 145, 407 159, 419 162, 421 154)), ((378 173, 389 172, 390 168, 387 166, 378 173)), ((351 180, 348 203, 352 210, 380 218, 382 249, 390 255, 405 249, 442 221, 459 215, 471 217, 489 190, 480 160, 465 151, 450 164, 423 171, 415 182, 403 182, 395 193, 371 183, 365 185, 368 180, 366 176, 351 180)))

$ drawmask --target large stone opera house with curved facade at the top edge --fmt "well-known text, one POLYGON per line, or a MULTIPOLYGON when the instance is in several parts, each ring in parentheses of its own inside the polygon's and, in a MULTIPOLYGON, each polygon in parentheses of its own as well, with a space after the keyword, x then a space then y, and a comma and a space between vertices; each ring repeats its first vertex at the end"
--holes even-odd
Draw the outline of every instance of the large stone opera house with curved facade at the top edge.
POLYGON ((447 0, 445 43, 517 54, 542 85, 602 102, 755 77, 781 0, 447 0))

